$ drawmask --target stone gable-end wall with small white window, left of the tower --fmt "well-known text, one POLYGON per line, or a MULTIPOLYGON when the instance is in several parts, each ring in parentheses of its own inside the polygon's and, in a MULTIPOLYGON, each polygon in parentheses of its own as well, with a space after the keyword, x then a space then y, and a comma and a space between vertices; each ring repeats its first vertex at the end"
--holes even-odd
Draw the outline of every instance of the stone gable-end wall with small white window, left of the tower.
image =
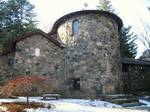
POLYGON ((50 76, 63 83, 64 49, 42 35, 32 35, 17 42, 14 69, 16 75, 50 76))

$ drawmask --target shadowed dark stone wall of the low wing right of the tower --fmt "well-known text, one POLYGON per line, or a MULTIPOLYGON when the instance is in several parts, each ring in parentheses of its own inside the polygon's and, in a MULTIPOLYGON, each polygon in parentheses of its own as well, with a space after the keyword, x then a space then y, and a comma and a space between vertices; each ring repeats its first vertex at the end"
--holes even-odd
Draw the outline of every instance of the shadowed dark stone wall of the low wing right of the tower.
POLYGON ((149 66, 123 64, 123 92, 150 92, 149 66))

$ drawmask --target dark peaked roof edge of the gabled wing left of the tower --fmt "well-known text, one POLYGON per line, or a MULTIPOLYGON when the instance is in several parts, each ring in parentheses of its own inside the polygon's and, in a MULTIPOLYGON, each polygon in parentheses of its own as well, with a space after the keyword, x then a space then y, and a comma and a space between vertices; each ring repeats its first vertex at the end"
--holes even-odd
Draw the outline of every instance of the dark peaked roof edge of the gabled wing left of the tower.
POLYGON ((54 43, 56 46, 60 47, 60 48, 64 48, 61 43, 59 43, 56 39, 54 39, 53 37, 50 37, 48 36, 45 32, 43 32, 42 30, 38 29, 34 32, 29 32, 29 33, 26 33, 24 34, 23 36, 21 36, 20 38, 17 38, 15 40, 13 40, 11 42, 12 46, 13 46, 13 50, 15 50, 15 47, 16 47, 16 43, 18 43, 19 41, 22 41, 26 38, 30 38, 31 36, 33 35, 37 35, 37 34, 40 34, 42 35, 43 37, 45 37, 46 39, 48 39, 49 41, 51 41, 52 43, 54 43))

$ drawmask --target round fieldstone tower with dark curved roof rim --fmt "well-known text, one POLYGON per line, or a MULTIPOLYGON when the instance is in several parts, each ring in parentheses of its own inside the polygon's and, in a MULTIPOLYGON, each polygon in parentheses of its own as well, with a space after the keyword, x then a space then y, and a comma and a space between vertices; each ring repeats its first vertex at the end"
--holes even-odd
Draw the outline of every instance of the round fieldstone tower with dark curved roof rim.
POLYGON ((65 78, 74 93, 92 97, 121 90, 122 25, 117 15, 99 10, 73 12, 56 21, 50 34, 66 46, 65 78))

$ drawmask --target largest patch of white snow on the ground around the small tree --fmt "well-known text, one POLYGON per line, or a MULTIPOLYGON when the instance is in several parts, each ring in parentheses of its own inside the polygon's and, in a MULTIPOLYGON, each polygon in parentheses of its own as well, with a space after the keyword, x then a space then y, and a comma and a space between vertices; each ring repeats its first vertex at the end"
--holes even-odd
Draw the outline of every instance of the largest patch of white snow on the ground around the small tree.
MULTIPOLYGON (((124 109, 119 105, 112 104, 101 100, 85 100, 85 99, 59 99, 59 100, 41 100, 42 97, 30 97, 30 102, 41 102, 45 104, 53 104, 54 109, 26 109, 27 112, 148 112, 144 110, 124 109)), ((26 97, 18 99, 0 99, 0 102, 18 102, 26 101, 26 97)), ((1 108, 0 108, 1 109, 1 108)))

